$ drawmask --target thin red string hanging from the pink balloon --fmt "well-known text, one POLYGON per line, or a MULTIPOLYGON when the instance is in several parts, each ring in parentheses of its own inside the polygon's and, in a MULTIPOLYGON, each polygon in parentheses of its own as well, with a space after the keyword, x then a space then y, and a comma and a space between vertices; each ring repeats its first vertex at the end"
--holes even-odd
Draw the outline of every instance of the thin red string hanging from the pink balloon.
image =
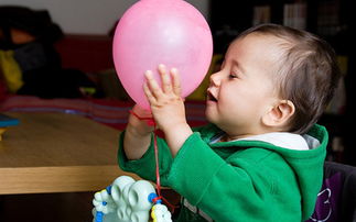
POLYGON ((154 136, 153 136, 153 144, 154 144, 154 160, 155 160, 155 180, 157 180, 157 192, 158 192, 158 197, 155 198, 155 200, 160 200, 162 199, 170 208, 172 213, 174 212, 174 209, 177 208, 176 206, 173 206, 172 203, 170 203, 165 198, 163 198, 161 196, 161 176, 160 176, 160 164, 159 164, 159 145, 158 145, 158 127, 155 124, 155 121, 153 118, 142 118, 140 115, 138 115, 136 112, 133 112, 132 110, 129 111, 131 114, 133 114, 137 119, 139 120, 143 120, 145 121, 145 123, 150 126, 154 126, 154 136))

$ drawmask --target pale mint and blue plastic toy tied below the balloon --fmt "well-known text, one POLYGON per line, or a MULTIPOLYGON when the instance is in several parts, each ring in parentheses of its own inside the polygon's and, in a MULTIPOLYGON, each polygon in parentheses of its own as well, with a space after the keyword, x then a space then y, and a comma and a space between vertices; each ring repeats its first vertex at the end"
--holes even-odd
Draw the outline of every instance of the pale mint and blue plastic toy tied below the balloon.
POLYGON ((136 181, 129 176, 118 177, 112 185, 95 193, 93 221, 172 222, 171 212, 157 197, 149 181, 136 181))

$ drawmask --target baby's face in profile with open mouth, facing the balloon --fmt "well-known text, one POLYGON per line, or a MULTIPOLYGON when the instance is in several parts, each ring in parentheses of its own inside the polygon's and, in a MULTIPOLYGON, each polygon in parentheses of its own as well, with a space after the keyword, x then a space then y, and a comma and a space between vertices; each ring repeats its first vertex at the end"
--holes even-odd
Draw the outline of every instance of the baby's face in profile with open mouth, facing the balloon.
POLYGON ((261 118, 278 100, 272 80, 280 63, 278 42, 261 34, 237 40, 222 69, 212 75, 206 116, 229 135, 261 133, 261 118))

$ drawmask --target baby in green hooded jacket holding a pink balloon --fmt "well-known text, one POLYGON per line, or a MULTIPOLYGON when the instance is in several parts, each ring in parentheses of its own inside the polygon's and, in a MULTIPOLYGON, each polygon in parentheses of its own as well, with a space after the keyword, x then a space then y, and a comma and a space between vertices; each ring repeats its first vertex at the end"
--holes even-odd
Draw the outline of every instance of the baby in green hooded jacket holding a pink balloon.
MULTIPOLYGON (((205 126, 191 129, 179 71, 147 71, 143 89, 164 140, 161 182, 179 192, 176 221, 304 221, 323 179, 327 132, 315 124, 339 78, 333 49, 304 32, 262 24, 229 46, 211 76, 205 126)), ((139 116, 151 113, 133 108, 139 116)), ((155 180, 153 127, 136 115, 119 165, 155 180)))

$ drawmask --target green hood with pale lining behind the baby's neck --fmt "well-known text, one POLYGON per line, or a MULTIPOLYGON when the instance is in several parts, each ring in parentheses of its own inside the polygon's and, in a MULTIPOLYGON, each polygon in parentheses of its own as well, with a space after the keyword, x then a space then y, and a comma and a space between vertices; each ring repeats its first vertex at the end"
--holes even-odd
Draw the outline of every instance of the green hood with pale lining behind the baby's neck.
MULTIPOLYGON (((219 134, 218 131, 220 130, 215 131, 215 133, 219 134)), ((276 143, 253 140, 253 137, 214 145, 222 147, 261 147, 271 149, 282 156, 298 178, 302 197, 302 218, 306 220, 313 213, 317 193, 322 187, 323 166, 326 156, 328 134, 324 126, 315 124, 305 135, 300 137, 302 137, 309 148, 287 148, 285 146, 283 147, 276 143), (313 171, 312 174, 311 170, 313 171)))

